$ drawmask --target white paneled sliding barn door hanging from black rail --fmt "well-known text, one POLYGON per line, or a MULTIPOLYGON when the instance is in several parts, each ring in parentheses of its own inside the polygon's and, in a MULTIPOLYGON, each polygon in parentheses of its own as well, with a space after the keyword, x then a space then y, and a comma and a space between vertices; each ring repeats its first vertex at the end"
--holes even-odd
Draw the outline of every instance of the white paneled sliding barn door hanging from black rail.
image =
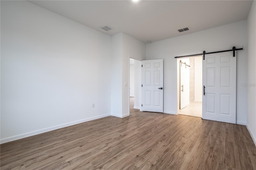
POLYGON ((205 55, 202 119, 236 123, 236 57, 233 52, 205 55))

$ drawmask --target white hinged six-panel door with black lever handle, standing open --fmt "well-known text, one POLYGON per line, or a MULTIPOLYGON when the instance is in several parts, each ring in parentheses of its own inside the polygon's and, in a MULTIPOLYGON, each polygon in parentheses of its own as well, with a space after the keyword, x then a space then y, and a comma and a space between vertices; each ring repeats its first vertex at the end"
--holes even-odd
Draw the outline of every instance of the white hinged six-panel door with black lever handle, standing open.
POLYGON ((142 111, 164 111, 164 60, 142 61, 142 111))

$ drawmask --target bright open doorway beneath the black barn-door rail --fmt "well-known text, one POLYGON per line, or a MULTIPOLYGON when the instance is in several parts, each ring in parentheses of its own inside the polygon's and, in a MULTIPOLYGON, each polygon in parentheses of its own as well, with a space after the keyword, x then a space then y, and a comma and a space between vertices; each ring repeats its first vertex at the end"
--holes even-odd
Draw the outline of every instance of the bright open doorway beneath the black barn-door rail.
POLYGON ((202 56, 177 59, 178 114, 202 117, 202 56))

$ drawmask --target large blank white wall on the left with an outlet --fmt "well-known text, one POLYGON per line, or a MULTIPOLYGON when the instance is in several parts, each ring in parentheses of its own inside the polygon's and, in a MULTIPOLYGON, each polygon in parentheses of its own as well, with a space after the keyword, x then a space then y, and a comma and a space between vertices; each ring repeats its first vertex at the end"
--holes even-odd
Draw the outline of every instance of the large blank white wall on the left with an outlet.
POLYGON ((1 1, 2 143, 110 115, 110 77, 110 36, 1 1))

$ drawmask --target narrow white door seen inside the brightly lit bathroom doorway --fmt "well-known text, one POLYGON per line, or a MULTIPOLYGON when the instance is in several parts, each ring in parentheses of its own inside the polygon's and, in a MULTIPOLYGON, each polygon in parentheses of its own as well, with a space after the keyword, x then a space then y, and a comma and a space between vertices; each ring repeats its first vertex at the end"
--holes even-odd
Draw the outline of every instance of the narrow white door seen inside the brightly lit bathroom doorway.
MULTIPOLYGON (((180 60, 189 65, 189 58, 180 60)), ((185 64, 180 63, 180 109, 183 109, 189 104, 189 80, 190 69, 185 64)))

